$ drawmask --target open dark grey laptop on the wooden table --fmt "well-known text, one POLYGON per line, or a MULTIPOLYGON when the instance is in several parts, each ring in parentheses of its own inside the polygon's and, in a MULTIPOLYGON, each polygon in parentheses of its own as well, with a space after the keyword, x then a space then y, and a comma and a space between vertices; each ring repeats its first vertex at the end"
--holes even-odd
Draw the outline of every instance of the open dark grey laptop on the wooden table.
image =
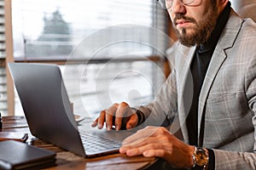
POLYGON ((94 157, 118 152, 122 139, 131 134, 105 131, 103 136, 79 128, 58 65, 9 63, 9 71, 27 124, 38 139, 79 156, 94 157))

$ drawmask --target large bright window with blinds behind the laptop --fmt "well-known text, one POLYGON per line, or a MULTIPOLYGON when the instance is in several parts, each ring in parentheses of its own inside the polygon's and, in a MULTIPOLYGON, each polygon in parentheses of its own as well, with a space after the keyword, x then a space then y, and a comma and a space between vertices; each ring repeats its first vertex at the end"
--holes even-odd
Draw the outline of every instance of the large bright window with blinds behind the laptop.
POLYGON ((77 113, 147 103, 164 81, 170 39, 157 1, 13 0, 12 17, 15 61, 61 64, 77 113))

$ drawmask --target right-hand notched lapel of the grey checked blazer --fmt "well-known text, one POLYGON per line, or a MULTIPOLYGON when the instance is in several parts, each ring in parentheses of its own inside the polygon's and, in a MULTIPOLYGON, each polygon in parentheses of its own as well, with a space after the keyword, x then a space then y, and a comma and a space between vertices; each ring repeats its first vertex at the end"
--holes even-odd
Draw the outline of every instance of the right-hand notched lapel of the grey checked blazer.
MULTIPOLYGON (((241 22, 242 20, 237 17, 233 10, 231 10, 230 19, 228 20, 228 23, 224 27, 224 31, 218 40, 218 44, 214 50, 214 53, 212 54, 212 60, 209 64, 207 75, 202 84, 198 106, 198 134, 201 134, 201 130, 204 130, 201 129, 201 120, 204 114, 207 96, 212 87, 212 82, 214 82, 221 65, 223 65, 224 60, 227 58, 226 54, 229 54, 228 51, 231 50, 231 47, 236 40, 236 36, 241 28, 241 22)), ((201 141, 201 138, 203 138, 203 136, 199 135, 198 141, 201 141)))

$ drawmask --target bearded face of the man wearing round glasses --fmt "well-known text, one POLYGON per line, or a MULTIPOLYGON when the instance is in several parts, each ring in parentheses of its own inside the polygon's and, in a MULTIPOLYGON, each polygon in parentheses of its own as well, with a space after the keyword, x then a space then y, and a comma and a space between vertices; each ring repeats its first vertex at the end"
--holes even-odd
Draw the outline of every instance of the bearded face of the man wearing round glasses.
POLYGON ((185 46, 194 46, 207 41, 216 26, 218 8, 210 0, 195 0, 199 5, 183 5, 173 0, 168 12, 179 41, 185 46))

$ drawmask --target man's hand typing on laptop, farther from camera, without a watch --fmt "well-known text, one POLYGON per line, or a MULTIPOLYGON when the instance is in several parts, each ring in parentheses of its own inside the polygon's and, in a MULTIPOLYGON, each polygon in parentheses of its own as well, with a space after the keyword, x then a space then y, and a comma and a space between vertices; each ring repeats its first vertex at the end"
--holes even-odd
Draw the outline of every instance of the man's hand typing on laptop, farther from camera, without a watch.
POLYGON ((92 122, 92 127, 98 127, 102 129, 106 122, 106 127, 108 130, 115 126, 116 130, 121 128, 131 129, 137 126, 138 117, 136 112, 131 110, 130 105, 122 102, 120 104, 113 104, 107 110, 101 111, 100 116, 92 122))

